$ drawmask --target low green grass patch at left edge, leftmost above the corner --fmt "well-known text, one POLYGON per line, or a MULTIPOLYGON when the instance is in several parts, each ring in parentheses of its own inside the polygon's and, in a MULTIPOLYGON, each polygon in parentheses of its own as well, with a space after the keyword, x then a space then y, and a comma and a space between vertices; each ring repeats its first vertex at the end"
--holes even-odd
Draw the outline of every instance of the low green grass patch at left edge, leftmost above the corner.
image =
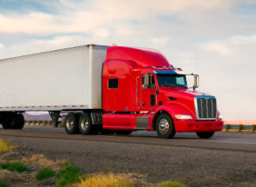
POLYGON ((30 170, 24 163, 20 161, 7 161, 5 163, 0 164, 0 168, 9 170, 10 172, 19 172, 19 173, 30 173, 30 170))

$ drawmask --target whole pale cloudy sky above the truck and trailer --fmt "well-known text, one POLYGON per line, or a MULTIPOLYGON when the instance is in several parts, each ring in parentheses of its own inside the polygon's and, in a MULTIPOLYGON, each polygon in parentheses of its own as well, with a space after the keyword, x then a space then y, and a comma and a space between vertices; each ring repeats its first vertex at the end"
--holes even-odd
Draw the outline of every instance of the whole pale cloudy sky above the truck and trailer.
POLYGON ((224 120, 256 119, 255 0, 0 0, 0 59, 89 43, 158 49, 224 120))

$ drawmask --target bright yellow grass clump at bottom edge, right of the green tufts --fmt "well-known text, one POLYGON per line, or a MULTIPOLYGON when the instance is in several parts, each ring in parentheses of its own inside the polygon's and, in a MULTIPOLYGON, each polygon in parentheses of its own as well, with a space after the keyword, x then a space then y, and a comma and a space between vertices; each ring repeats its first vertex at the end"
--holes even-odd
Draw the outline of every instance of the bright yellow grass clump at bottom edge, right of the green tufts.
POLYGON ((86 179, 81 179, 77 187, 133 187, 125 178, 118 177, 113 173, 95 174, 86 179))

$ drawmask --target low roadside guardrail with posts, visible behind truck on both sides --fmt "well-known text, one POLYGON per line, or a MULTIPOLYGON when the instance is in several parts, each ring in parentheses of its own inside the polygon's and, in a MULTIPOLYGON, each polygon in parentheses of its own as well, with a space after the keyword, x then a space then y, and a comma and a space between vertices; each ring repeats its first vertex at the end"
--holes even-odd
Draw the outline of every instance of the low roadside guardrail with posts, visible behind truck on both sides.
MULTIPOLYGON (((53 126, 52 121, 42 121, 42 120, 28 120, 25 121, 26 126, 53 126)), ((61 127, 61 124, 59 125, 61 127)), ((223 127, 223 132, 253 132, 256 133, 256 124, 255 125, 232 125, 225 124, 223 127)))

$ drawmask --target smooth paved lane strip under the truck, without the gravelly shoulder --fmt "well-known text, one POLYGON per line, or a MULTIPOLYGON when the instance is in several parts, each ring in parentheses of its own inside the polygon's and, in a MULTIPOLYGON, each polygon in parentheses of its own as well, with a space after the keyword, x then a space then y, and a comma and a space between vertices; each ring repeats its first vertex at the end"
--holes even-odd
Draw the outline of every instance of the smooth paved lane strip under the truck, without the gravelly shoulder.
POLYGON ((23 130, 3 130, 0 136, 45 138, 45 139, 78 139, 89 141, 119 142, 132 144, 154 144, 211 150, 240 150, 256 152, 256 134, 217 132, 212 139, 199 139, 195 133, 177 133, 174 139, 160 139, 155 132, 137 131, 128 136, 117 135, 70 135, 62 127, 25 127, 23 130))

